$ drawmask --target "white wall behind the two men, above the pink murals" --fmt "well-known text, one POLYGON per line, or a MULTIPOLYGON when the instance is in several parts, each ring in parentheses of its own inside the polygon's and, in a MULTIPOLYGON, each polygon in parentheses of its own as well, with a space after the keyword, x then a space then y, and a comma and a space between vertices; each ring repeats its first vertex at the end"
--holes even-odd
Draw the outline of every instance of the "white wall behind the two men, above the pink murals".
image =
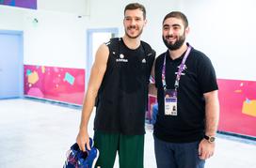
MULTIPOLYGON (((38 10, 0 6, 0 29, 24 31, 24 64, 84 69, 87 29, 118 27, 122 36, 123 8, 130 2, 134 1, 38 0, 38 10)), ((188 41, 211 58, 218 78, 255 81, 253 0, 137 2, 147 8, 142 39, 158 54, 166 51, 161 38, 164 16, 182 10, 191 27, 188 41)))

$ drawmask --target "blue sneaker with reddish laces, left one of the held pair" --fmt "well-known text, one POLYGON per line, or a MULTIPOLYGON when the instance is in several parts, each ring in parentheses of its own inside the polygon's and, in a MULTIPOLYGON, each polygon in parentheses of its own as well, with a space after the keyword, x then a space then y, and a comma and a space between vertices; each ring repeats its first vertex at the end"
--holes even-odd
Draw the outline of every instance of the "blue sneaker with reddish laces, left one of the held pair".
MULTIPOLYGON (((89 138, 89 146, 90 148, 93 147, 93 140, 89 138)), ((78 160, 79 158, 87 158, 88 156, 88 148, 86 146, 86 152, 83 152, 79 149, 79 145, 76 143, 71 146, 71 149, 67 153, 67 160, 65 161, 65 164, 63 168, 77 168, 78 166, 78 160)))

